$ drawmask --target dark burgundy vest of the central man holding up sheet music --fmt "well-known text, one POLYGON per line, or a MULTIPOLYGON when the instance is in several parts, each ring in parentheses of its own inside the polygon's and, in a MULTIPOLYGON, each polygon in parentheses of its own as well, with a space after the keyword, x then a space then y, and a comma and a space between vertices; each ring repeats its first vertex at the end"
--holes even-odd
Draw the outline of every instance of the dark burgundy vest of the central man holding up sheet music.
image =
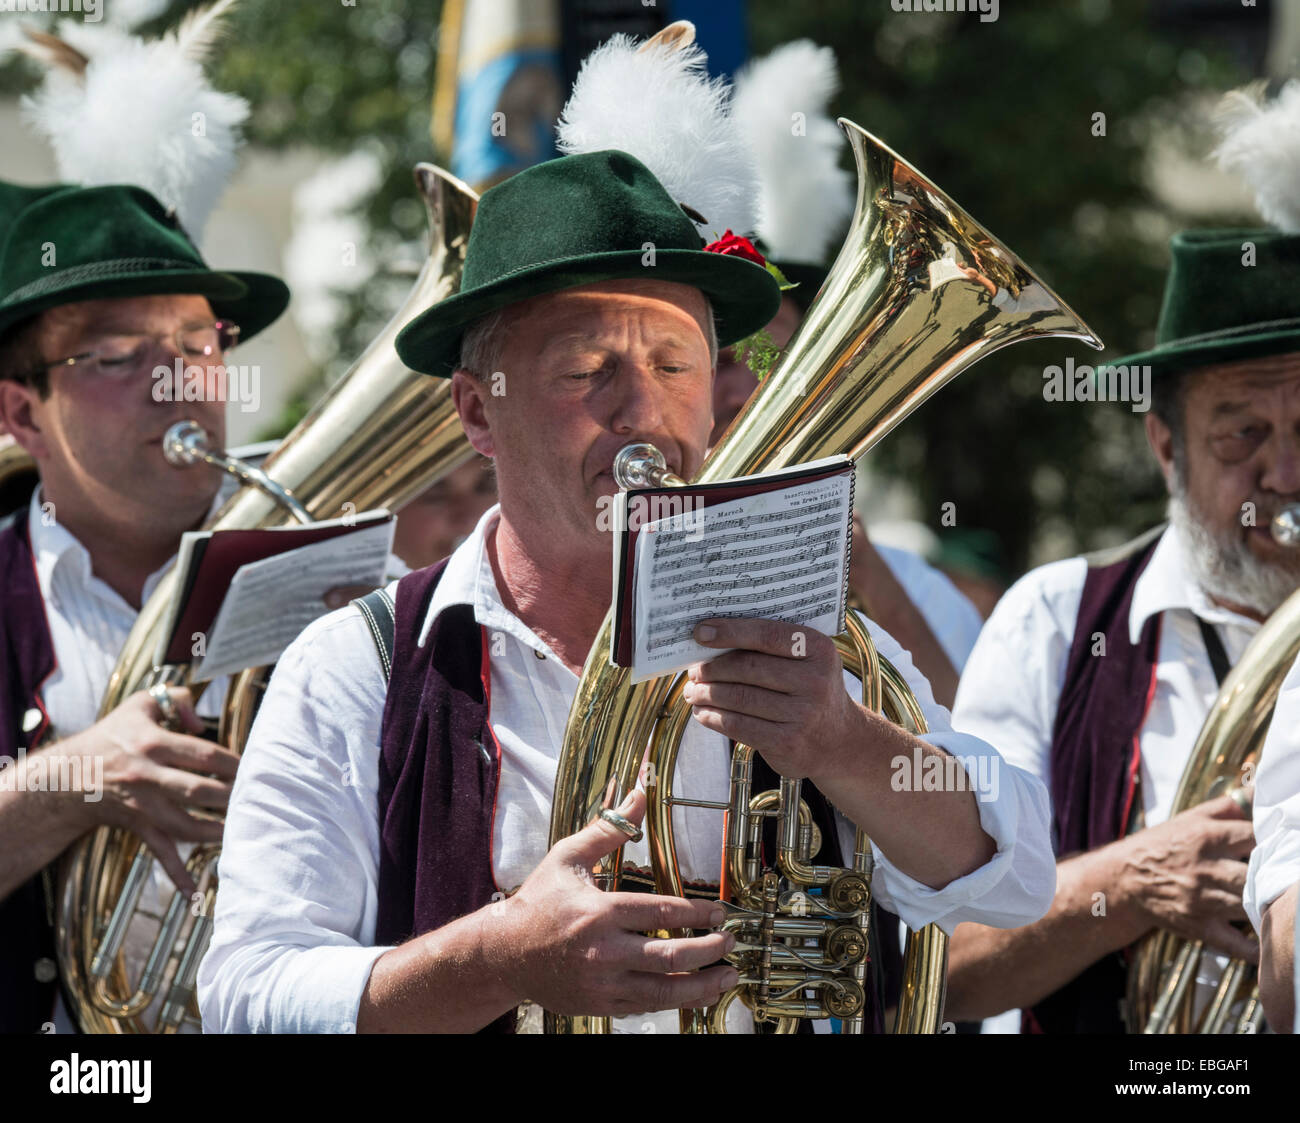
MULTIPOLYGON (((488 720, 491 680, 482 629, 468 604, 454 604, 438 613, 424 647, 419 646, 446 564, 417 569, 398 582, 393 669, 380 734, 376 942, 381 945, 450 924, 499 892, 491 844, 500 746, 488 720)), ((762 758, 755 758, 754 782, 755 790, 776 786, 762 758)), ((810 784, 803 785, 803 799, 822 831, 823 846, 814 860, 841 864, 831 806, 810 784)), ((775 838, 768 841, 774 845, 775 838)), ((868 1001, 868 1020, 879 1031, 879 1007, 874 996, 868 1001)), ((514 1028, 511 1013, 481 1032, 514 1028)))

